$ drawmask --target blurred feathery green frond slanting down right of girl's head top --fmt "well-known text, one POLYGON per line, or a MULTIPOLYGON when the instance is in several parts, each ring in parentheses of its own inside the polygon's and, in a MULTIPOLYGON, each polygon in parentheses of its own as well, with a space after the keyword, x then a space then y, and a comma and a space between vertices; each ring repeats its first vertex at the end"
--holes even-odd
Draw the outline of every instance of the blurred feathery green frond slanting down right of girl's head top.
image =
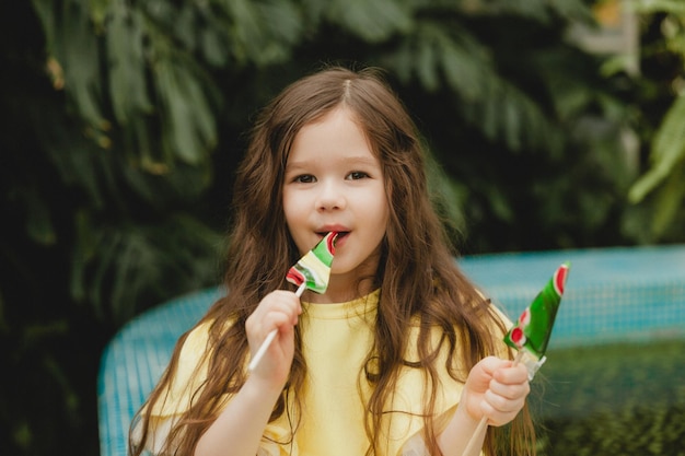
POLYGON ((558 151, 559 133, 549 116, 498 73, 487 47, 463 26, 425 21, 384 62, 403 81, 416 75, 429 92, 446 84, 462 117, 488 139, 513 151, 558 151))

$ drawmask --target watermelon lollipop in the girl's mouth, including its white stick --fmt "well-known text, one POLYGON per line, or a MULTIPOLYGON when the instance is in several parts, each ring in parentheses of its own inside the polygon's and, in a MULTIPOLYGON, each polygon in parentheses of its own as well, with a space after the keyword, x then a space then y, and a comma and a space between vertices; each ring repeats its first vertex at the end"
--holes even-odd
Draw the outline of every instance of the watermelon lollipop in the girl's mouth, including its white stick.
MULTIPOLYGON (((293 265, 286 280, 290 283, 298 285, 295 295, 300 297, 304 290, 309 289, 316 293, 324 293, 328 288, 328 278, 330 277, 330 265, 333 264, 333 256, 335 254, 335 239, 338 237, 338 233, 330 232, 324 236, 310 252, 306 253, 300 260, 293 265)), ((254 371, 259 360, 266 353, 278 329, 274 329, 269 332, 262 342, 262 347, 255 353, 254 358, 249 361, 247 366, 248 371, 254 371)))

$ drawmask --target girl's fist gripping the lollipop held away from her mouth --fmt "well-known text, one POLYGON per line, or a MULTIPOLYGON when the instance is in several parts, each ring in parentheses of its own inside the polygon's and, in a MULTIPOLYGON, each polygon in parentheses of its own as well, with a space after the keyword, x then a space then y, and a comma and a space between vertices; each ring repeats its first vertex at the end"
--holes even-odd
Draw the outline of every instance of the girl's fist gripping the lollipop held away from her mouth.
POLYGON ((530 391, 525 365, 488 356, 468 373, 462 404, 474 420, 487 417, 489 425, 499 426, 516 417, 530 391))

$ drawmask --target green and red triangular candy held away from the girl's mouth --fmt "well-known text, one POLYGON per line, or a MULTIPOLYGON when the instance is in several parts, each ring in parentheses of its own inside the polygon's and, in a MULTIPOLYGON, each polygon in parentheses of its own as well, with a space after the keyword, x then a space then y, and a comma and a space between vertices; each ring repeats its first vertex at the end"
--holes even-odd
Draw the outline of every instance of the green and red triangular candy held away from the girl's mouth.
MULTIPOLYGON (((545 351, 557 316, 570 265, 565 262, 554 273, 545 288, 523 311, 519 320, 504 336, 504 342, 523 351, 522 362, 529 372, 537 371, 545 361, 545 351)), ((534 374, 533 372, 533 374, 534 374)))

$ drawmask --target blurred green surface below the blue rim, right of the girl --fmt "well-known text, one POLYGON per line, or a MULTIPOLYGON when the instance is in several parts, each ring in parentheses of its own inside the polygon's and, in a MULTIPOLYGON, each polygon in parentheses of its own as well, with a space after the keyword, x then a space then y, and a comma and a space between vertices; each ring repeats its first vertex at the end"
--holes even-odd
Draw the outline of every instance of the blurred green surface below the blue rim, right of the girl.
POLYGON ((550 351, 541 455, 685 455, 683 349, 673 339, 550 351))

